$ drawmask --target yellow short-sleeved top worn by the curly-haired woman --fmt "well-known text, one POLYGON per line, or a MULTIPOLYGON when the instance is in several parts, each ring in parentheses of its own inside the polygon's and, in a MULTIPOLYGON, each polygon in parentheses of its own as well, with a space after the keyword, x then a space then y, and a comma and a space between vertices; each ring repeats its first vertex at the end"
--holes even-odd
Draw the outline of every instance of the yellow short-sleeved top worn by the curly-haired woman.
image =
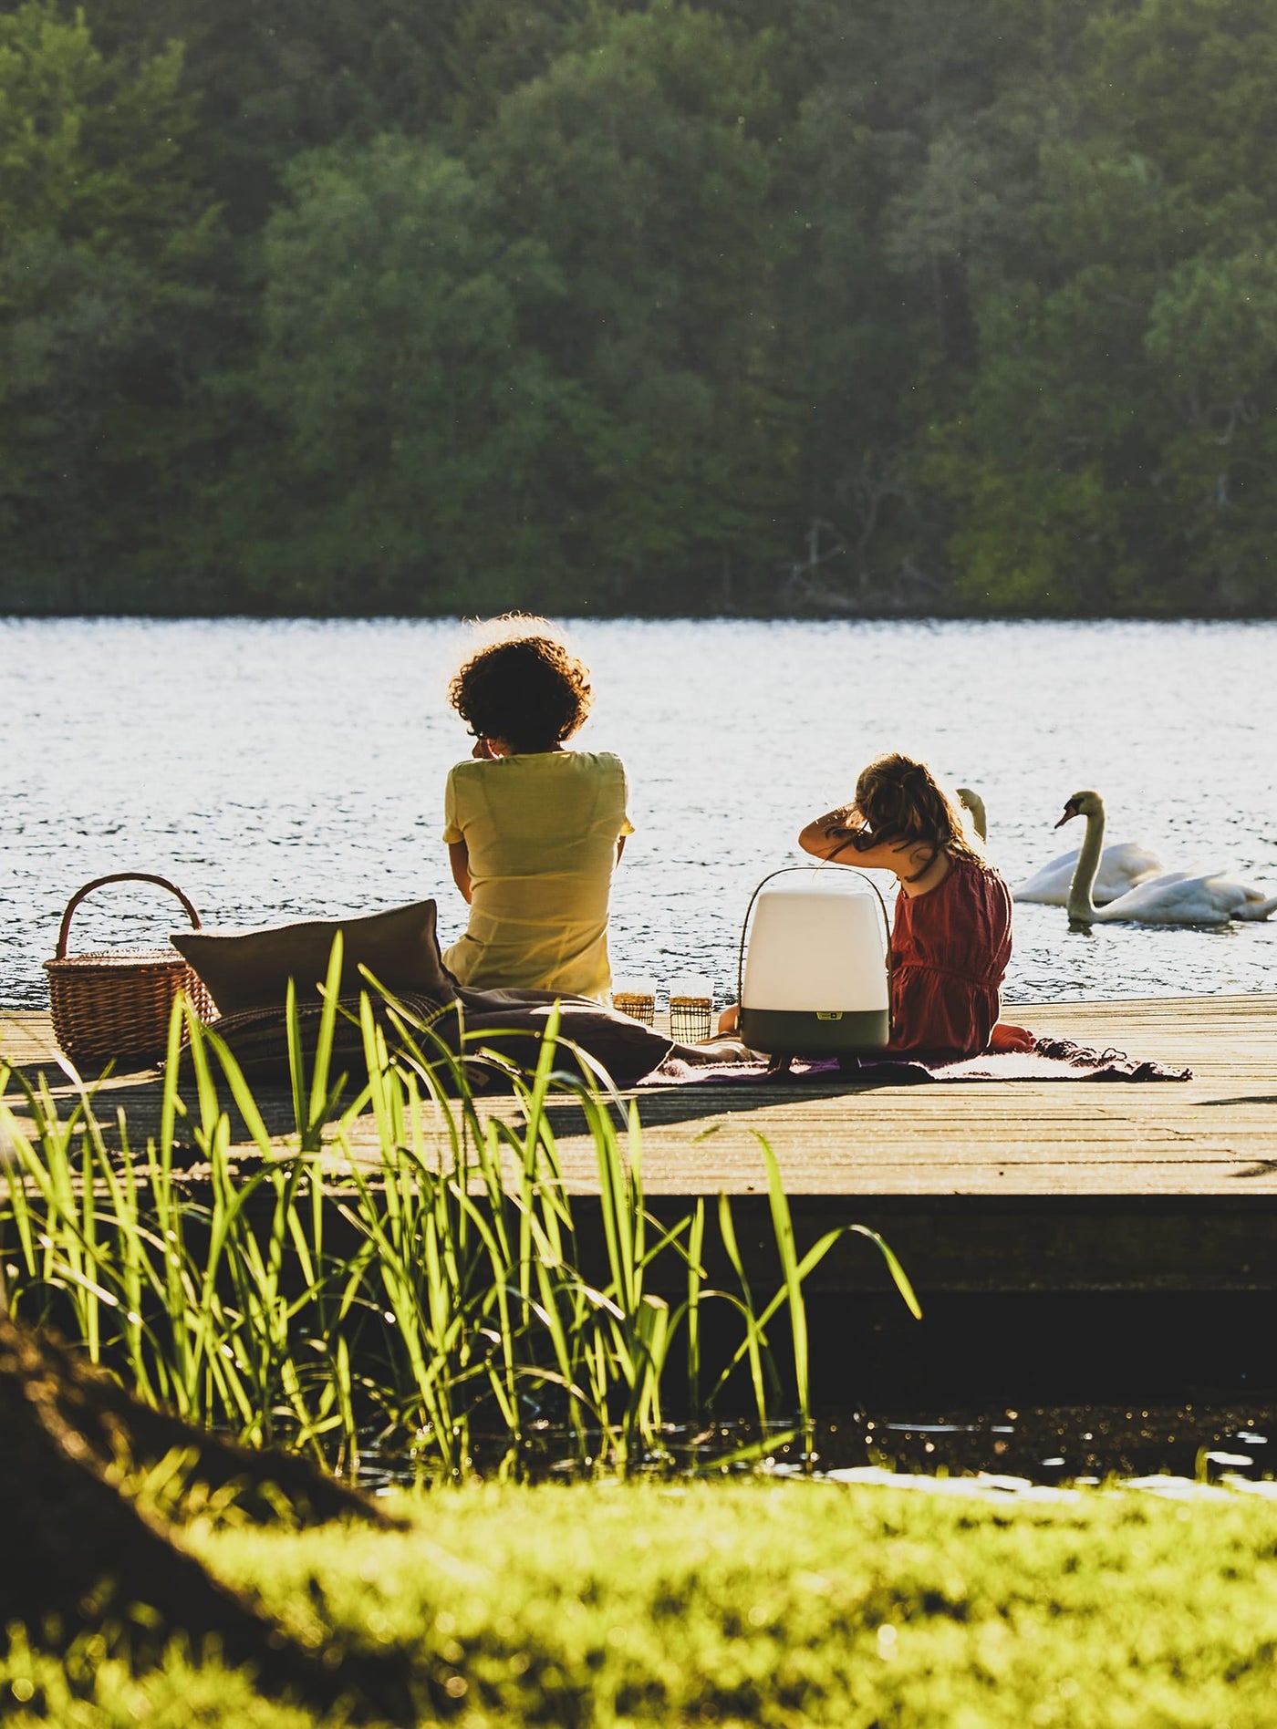
POLYGON ((443 839, 471 858, 471 922, 443 956, 478 989, 604 998, 616 842, 632 835, 621 759, 536 750, 448 775, 443 839))

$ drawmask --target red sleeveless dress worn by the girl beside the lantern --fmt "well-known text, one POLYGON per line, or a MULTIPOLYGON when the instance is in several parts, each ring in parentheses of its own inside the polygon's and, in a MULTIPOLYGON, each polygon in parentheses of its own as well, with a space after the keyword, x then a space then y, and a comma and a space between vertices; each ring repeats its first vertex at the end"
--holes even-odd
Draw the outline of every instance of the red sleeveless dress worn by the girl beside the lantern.
POLYGON ((910 899, 891 928, 891 1053, 978 1056, 998 1018, 1011 960, 1011 890, 993 870, 957 858, 945 880, 910 899))

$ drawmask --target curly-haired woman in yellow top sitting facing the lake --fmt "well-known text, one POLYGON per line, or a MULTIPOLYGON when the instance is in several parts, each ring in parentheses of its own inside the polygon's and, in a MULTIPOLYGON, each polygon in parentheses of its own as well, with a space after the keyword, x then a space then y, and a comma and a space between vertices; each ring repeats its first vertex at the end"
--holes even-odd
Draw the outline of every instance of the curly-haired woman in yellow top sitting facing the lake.
POLYGON ((448 697, 476 738, 448 775, 452 875, 469 903, 443 956, 460 984, 606 998, 607 897, 633 833, 621 759, 566 750, 594 692, 543 619, 502 619, 448 697))

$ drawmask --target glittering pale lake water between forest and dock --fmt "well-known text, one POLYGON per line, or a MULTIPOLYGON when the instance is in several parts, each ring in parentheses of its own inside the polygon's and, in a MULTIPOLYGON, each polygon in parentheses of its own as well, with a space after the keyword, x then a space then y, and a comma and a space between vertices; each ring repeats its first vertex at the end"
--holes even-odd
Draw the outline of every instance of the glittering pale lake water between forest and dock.
MULTIPOLYGON (((1208 858, 1277 892, 1277 624, 578 621, 595 676, 581 745, 618 750, 637 835, 613 965, 734 994, 756 882, 877 750, 988 802, 1011 880, 1097 788, 1113 840, 1208 858)), ((206 925, 465 908, 440 840, 469 752, 445 700, 455 622, 0 621, 0 1003, 45 1001, 71 892, 112 870, 178 882, 206 925)), ((106 889, 71 947, 151 942, 182 913, 106 889), (176 915, 176 918, 173 916, 176 915)), ((1277 918, 1222 932, 1097 927, 1019 906, 1021 1001, 1277 989, 1277 918)))

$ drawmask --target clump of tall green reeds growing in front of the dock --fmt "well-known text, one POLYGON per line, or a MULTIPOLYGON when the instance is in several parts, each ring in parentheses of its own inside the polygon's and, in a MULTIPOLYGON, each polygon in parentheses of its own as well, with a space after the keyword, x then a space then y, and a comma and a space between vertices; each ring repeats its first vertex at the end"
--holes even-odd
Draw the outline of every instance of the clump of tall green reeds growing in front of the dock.
MULTIPOLYGON (((348 1471, 370 1442, 438 1477, 471 1471, 476 1449, 517 1471, 545 1423, 580 1470, 659 1463, 675 1392, 701 1414, 744 1373, 758 1421, 775 1420, 782 1324, 810 1432, 803 1285, 843 1233, 799 1257, 765 1139, 780 1283, 760 1300, 727 1195, 716 1245, 703 1200, 673 1224, 652 1215, 638 1108, 561 1036, 557 1015, 524 1072, 479 1041, 453 1051, 369 979, 367 1082, 360 1072, 351 1088, 336 1069, 339 977, 337 941, 313 1050, 289 996, 282 1138, 216 1024, 187 1005, 145 1148, 132 1146, 123 1112, 109 1132, 109 1094, 69 1065, 57 1096, 0 1065, 12 1145, 0 1262, 16 1312, 57 1321, 154 1404, 348 1471), (484 1108, 493 1081, 517 1113, 484 1108), (594 1146, 588 1200, 564 1179, 552 1127, 564 1101, 594 1146), (251 1160, 232 1146, 232 1105, 251 1160), (708 1259, 735 1288, 711 1283, 708 1259), (737 1343, 720 1350, 706 1392, 711 1304, 737 1343)), ((919 1314, 886 1243, 850 1229, 877 1243, 919 1314)))

